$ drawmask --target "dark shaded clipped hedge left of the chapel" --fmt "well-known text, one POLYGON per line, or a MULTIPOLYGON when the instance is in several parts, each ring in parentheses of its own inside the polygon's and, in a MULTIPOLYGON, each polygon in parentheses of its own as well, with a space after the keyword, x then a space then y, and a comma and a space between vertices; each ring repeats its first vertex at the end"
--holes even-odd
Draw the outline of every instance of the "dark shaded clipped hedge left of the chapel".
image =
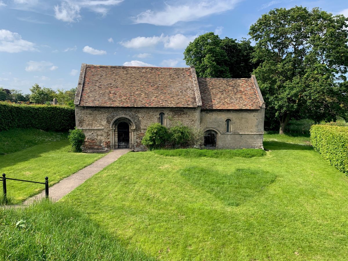
POLYGON ((75 126, 75 110, 61 105, 0 102, 0 131, 12 128, 68 130, 75 126))

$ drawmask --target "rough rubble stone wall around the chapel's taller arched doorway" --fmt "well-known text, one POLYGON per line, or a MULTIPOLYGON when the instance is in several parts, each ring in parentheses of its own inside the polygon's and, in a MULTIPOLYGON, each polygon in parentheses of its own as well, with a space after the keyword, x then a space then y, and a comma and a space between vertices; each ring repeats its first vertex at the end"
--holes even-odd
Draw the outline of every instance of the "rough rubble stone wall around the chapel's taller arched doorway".
POLYGON ((144 149, 142 137, 150 124, 158 122, 159 113, 165 114, 165 125, 181 121, 187 126, 196 126, 199 122, 197 108, 144 108, 144 107, 85 107, 76 106, 77 127, 85 135, 84 151, 101 151, 117 148, 117 122, 122 119, 129 122, 129 147, 144 149), (117 118, 114 124, 111 123, 117 118), (115 131, 116 128, 116 131, 115 131), (115 144, 114 148, 112 144, 115 144))

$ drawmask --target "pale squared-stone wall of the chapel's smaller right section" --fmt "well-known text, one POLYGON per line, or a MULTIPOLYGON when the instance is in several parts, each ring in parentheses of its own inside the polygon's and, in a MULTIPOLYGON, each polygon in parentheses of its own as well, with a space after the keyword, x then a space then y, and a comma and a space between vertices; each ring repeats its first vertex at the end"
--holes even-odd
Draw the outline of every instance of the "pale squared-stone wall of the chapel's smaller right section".
POLYGON ((264 109, 201 110, 200 123, 205 130, 217 133, 217 149, 263 149, 264 109), (229 132, 226 120, 230 119, 229 132))

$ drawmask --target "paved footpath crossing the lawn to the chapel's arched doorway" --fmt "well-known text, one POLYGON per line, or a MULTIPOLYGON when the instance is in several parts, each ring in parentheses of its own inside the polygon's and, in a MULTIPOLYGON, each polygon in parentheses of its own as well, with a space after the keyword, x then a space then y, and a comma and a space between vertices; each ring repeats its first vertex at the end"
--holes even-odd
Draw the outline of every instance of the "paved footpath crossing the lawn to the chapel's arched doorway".
MULTIPOLYGON (((122 155, 126 154, 131 150, 114 150, 101 159, 98 159, 91 165, 81 169, 80 171, 66 177, 64 180, 54 184, 49 188, 49 198, 52 201, 60 200, 63 196, 68 194, 70 191, 74 190, 76 187, 84 183, 87 179, 92 177, 97 172, 101 171, 103 168, 113 163, 122 155)), ((38 200, 45 197, 45 190, 40 194, 31 197, 24 201, 23 205, 29 205, 33 203, 34 200, 38 200)))

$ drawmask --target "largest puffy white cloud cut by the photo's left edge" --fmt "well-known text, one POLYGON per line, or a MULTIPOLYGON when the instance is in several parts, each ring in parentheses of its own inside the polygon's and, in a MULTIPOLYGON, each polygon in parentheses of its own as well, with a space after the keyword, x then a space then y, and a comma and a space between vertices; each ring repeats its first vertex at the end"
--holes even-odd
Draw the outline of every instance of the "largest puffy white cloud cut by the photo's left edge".
POLYGON ((9 30, 0 30, 0 52, 19 53, 22 51, 36 51, 35 44, 23 40, 21 35, 9 30))

